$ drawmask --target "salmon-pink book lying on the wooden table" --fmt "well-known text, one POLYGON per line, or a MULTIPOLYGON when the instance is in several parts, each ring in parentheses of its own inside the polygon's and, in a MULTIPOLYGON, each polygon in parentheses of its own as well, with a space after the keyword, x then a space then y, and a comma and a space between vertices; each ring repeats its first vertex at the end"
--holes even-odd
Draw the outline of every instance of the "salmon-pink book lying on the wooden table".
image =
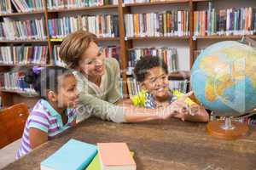
POLYGON ((136 170, 136 163, 125 143, 98 143, 102 170, 136 170))

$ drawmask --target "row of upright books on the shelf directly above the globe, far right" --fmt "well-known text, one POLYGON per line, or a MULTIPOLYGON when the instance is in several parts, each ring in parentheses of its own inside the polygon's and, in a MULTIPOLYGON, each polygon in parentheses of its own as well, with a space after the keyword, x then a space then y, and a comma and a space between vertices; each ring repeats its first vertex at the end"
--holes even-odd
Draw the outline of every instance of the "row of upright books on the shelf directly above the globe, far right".
MULTIPOLYGON (((210 3, 211 4, 211 3, 210 3)), ((256 8, 228 8, 194 12, 194 35, 253 35, 256 33, 256 8)))

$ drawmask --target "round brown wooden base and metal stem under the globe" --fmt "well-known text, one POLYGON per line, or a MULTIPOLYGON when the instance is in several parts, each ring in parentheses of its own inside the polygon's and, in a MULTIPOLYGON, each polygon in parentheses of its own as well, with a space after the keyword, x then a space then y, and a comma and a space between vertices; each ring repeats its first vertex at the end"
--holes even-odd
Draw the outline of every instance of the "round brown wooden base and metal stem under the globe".
POLYGON ((224 121, 212 121, 207 124, 207 131, 210 135, 219 139, 239 139, 247 135, 249 127, 241 122, 231 122, 230 117, 224 121))

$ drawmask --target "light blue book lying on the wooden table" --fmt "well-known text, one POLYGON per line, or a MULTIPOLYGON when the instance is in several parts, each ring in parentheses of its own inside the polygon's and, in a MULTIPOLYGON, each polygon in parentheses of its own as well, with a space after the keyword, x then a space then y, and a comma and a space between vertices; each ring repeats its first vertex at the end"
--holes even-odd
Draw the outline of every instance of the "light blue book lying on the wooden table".
POLYGON ((41 162, 41 170, 84 169, 90 164, 96 153, 96 145, 70 139, 53 155, 41 162))

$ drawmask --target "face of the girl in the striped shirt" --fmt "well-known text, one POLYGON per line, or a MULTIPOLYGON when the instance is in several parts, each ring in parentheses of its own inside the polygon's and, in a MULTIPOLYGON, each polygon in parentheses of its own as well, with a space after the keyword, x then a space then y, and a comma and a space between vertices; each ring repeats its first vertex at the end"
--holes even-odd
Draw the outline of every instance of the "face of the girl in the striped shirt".
POLYGON ((59 77, 58 81, 60 81, 57 94, 58 106, 75 107, 79 100, 77 80, 73 75, 64 75, 59 77))

